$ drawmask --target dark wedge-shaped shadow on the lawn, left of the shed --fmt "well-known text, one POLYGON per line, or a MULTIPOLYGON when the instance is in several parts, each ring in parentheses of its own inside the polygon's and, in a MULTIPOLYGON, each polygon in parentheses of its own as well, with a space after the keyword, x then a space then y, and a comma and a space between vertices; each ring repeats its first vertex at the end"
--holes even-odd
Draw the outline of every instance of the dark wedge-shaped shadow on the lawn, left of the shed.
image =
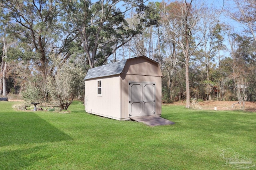
POLYGON ((1 113, 0 147, 71 140, 35 113, 1 113))

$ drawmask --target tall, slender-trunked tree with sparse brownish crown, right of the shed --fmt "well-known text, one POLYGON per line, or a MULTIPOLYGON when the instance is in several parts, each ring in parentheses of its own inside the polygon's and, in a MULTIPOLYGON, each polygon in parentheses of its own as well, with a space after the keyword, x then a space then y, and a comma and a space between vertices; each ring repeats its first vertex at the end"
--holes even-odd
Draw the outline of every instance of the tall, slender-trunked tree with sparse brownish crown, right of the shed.
POLYGON ((193 3, 193 0, 187 2, 171 2, 166 4, 162 2, 161 12, 164 18, 164 25, 171 36, 168 38, 181 49, 185 64, 186 79, 186 108, 190 107, 190 85, 189 85, 189 61, 198 45, 202 43, 206 31, 212 26, 212 23, 203 23, 202 19, 209 14, 217 20, 220 13, 214 14, 211 7, 207 7, 204 2, 193 3), (205 27, 204 32, 200 33, 199 27, 205 27))

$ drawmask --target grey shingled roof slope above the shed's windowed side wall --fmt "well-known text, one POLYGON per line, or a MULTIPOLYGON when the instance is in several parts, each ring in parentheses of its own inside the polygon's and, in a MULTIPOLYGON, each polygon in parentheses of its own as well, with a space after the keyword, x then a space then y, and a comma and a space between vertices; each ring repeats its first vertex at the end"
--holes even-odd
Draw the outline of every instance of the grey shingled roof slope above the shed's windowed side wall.
POLYGON ((127 61, 127 59, 118 61, 115 63, 106 64, 103 66, 90 68, 88 70, 84 80, 120 74, 122 72, 122 70, 124 69, 126 61, 127 61))

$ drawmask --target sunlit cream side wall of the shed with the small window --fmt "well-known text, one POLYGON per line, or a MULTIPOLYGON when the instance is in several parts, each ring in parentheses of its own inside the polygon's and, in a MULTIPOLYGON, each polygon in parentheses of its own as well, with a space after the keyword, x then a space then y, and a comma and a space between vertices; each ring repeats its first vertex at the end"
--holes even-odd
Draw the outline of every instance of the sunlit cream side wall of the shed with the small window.
POLYGON ((112 119, 121 117, 120 76, 90 79, 85 81, 85 96, 88 96, 85 111, 112 119), (102 81, 102 96, 97 95, 98 80, 102 81))

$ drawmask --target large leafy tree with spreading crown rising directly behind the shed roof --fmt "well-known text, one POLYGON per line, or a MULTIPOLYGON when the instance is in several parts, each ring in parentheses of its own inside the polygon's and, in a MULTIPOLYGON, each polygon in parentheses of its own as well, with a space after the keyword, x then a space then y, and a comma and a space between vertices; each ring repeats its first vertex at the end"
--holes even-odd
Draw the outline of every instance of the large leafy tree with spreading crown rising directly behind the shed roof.
POLYGON ((67 22, 77 31, 91 68, 102 65, 145 26, 152 24, 140 18, 134 29, 128 27, 126 15, 132 10, 142 13, 146 9, 141 0, 62 0, 62 6, 67 22))

